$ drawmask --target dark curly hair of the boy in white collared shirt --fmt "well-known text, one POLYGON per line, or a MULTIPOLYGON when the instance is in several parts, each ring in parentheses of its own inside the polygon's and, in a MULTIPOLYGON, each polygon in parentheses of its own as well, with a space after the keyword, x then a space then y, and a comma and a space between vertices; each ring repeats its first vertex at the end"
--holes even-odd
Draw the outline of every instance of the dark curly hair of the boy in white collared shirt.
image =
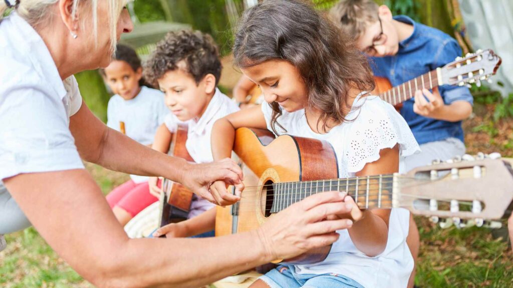
POLYGON ((196 84, 207 75, 215 76, 215 85, 221 77, 219 49, 208 34, 200 31, 171 31, 157 44, 157 48, 146 61, 144 78, 155 87, 158 79, 168 71, 181 69, 178 64, 184 61, 186 72, 196 84))

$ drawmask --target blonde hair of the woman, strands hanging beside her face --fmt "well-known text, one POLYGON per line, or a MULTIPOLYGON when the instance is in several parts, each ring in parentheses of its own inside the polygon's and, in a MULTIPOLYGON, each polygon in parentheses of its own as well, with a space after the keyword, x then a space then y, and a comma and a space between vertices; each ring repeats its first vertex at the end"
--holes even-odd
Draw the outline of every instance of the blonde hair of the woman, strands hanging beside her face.
MULTIPOLYGON (((50 13, 48 13, 48 9, 55 5, 59 0, 23 0, 17 2, 16 7, 14 8, 19 16, 24 18, 32 27, 37 27, 39 25, 45 24, 46 21, 50 20, 50 13)), ((109 27, 110 27, 110 42, 111 49, 115 51, 115 47, 117 44, 117 33, 116 33, 116 24, 117 20, 121 15, 122 8, 126 5, 128 0, 108 0, 109 1, 109 27)), ((93 24, 93 33, 95 43, 97 45, 97 37, 98 37, 98 0, 74 0, 73 7, 71 11, 71 15, 73 18, 76 17, 77 11, 82 3, 89 4, 91 7, 91 15, 92 15, 92 24, 93 24)), ((3 14, 7 10, 7 5, 4 1, 0 1, 0 18, 2 18, 3 14)), ((82 23, 84 23, 85 19, 82 19, 82 23)))

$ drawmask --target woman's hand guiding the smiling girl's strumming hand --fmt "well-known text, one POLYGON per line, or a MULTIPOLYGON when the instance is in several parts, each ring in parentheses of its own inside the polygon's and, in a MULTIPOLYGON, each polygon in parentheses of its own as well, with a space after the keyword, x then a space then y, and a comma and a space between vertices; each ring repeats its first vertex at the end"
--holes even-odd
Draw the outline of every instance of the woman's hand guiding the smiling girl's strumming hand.
MULTIPOLYGON (((219 197, 218 201, 210 192, 211 183, 220 180, 227 185, 240 186, 243 180, 241 168, 229 158, 201 164, 188 162, 182 171, 182 184, 195 194, 217 205, 227 205, 233 202, 222 200, 219 197)), ((228 197, 228 199, 232 198, 228 197)))

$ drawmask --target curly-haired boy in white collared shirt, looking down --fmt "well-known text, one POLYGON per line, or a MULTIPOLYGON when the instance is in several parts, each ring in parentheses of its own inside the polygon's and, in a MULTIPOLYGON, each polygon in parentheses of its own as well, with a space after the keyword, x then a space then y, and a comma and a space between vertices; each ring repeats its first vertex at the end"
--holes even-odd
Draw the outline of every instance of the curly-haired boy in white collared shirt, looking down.
MULTIPOLYGON (((156 50, 147 60, 144 77, 159 87, 165 94, 169 113, 164 124, 157 130, 152 148, 163 153, 169 150, 171 135, 179 123, 188 126, 186 148, 197 163, 211 162, 210 134, 215 120, 239 110, 239 107, 224 95, 217 85, 221 76, 219 50, 212 37, 200 31, 183 30, 169 32, 157 44, 156 50)), ((150 178, 150 192, 160 194, 157 179, 150 178)), ((188 218, 198 216, 213 204, 193 196, 188 218)), ((210 218, 210 217, 207 217, 210 218)), ((168 236, 192 236, 187 231, 198 231, 205 227, 200 218, 166 227, 168 236)), ((208 226, 208 225, 207 225, 208 226)), ((213 236, 213 231, 203 236, 213 236)))

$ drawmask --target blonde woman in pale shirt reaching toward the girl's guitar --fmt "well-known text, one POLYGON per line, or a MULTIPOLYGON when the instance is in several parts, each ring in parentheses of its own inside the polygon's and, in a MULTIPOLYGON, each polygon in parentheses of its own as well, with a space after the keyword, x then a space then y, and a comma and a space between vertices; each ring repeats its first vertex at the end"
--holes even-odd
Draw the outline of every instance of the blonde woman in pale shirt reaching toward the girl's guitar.
MULTIPOLYGON (((73 74, 109 64, 116 40, 132 30, 124 5, 122 0, 0 2, 0 16, 6 7, 13 10, 0 23, 0 180, 8 190, 0 190, 0 234, 23 228, 26 215, 72 268, 109 287, 199 286, 334 242, 334 231, 347 228, 347 220, 319 220, 350 211, 338 192, 296 203, 249 233, 206 239, 126 236, 81 158, 182 182, 212 202, 209 183, 222 179, 241 187, 242 173, 230 159, 191 164, 151 150, 108 129, 82 102, 73 74)), ((230 195, 216 203, 238 199, 230 195)))

